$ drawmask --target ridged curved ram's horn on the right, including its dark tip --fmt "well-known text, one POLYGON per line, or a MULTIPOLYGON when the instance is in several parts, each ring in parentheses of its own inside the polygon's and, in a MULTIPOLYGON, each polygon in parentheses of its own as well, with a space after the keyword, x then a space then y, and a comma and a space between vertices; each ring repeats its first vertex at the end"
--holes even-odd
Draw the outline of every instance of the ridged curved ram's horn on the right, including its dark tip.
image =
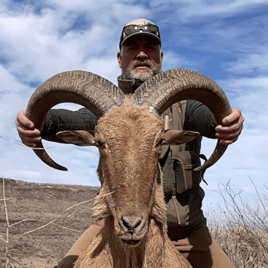
MULTIPOLYGON (((208 77, 186 69, 162 72, 143 83, 134 93, 138 106, 147 105, 153 113, 161 115, 168 107, 181 100, 197 100, 214 114, 217 124, 232 111, 223 90, 208 77)), ((195 171, 205 170, 218 161, 227 145, 217 145, 204 165, 195 171)))

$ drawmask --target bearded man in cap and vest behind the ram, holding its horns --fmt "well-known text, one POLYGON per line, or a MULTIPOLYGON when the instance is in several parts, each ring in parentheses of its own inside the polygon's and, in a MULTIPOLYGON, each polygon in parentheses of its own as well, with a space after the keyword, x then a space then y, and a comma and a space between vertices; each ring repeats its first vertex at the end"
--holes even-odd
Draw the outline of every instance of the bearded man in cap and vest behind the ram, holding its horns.
MULTIPOLYGON (((161 72, 163 52, 160 32, 151 21, 138 19, 128 23, 123 28, 119 47, 117 60, 122 74, 118 77, 118 84, 125 94, 133 93, 144 81, 161 72)), ((231 144, 237 140, 244 121, 241 112, 233 109, 232 113, 223 119, 222 125, 216 126, 211 112, 197 101, 174 104, 164 114, 168 116, 171 128, 199 131, 202 136, 218 138, 223 144, 231 144)), ((87 109, 77 112, 62 109, 49 111, 43 122, 42 133, 25 117, 25 111, 19 112, 16 119, 22 142, 31 147, 34 147, 41 137, 60 142, 55 135, 58 131, 94 129, 96 124, 96 116, 87 109)), ((234 267, 226 254, 211 239, 206 227, 206 219, 201 210, 204 191, 199 185, 203 174, 196 177, 184 168, 184 164, 191 167, 199 165, 200 148, 201 138, 183 147, 163 148, 160 160, 164 174, 168 234, 193 267, 234 267), (187 182, 183 185, 191 186, 182 187, 181 181, 187 182), (175 184, 176 189, 173 187, 175 184)), ((73 267, 77 256, 102 226, 103 223, 99 222, 86 230, 59 263, 58 268, 73 267)))

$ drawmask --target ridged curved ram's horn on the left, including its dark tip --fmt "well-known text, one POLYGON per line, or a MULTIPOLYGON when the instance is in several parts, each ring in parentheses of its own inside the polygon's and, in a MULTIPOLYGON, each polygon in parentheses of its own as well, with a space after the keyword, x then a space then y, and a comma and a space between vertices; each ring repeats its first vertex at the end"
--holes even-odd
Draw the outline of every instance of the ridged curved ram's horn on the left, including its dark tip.
MULTIPOLYGON (((124 99, 121 89, 96 74, 84 71, 64 72, 51 77, 36 89, 28 102, 26 116, 40 130, 44 116, 56 104, 81 104, 101 117, 112 108, 122 105, 124 99)), ((67 170, 49 157, 42 142, 37 144, 34 152, 47 165, 67 170)))

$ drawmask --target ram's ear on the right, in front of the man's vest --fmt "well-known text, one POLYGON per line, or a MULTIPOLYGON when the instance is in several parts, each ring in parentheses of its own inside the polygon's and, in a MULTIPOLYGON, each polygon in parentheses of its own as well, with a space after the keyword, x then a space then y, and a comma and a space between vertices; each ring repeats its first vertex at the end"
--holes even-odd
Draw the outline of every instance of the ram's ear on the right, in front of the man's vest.
POLYGON ((199 132, 190 130, 174 130, 170 129, 163 133, 163 145, 180 145, 196 139, 199 132))

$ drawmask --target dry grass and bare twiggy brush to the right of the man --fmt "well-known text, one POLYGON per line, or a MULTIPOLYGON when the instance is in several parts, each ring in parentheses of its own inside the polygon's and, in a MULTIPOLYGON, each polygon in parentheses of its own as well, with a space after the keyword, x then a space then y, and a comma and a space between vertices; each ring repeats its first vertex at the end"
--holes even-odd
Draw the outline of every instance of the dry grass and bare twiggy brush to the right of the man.
POLYGON ((219 189, 224 208, 208 213, 211 234, 237 268, 268 267, 268 198, 257 193, 257 202, 249 204, 234 193, 230 183, 219 189))

